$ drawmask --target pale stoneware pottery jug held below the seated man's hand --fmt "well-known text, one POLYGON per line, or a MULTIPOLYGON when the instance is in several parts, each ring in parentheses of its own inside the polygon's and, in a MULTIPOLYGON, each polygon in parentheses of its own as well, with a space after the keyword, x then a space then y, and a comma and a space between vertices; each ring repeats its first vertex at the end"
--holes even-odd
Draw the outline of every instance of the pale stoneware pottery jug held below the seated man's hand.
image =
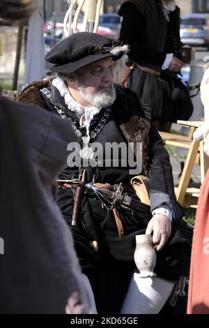
POLYGON ((156 263, 156 253, 150 234, 138 234, 136 236, 134 261, 139 270, 139 277, 146 278, 156 276, 153 272, 156 263))

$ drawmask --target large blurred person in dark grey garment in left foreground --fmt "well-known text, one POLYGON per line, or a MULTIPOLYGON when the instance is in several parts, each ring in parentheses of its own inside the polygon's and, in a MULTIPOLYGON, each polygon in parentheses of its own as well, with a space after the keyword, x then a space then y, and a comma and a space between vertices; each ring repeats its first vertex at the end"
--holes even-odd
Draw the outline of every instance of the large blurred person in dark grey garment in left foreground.
MULTIPOLYGON (((29 17, 30 4, 1 1, 1 24, 29 17)), ((0 313, 95 313, 55 199, 68 124, 1 96, 0 122, 0 313)))

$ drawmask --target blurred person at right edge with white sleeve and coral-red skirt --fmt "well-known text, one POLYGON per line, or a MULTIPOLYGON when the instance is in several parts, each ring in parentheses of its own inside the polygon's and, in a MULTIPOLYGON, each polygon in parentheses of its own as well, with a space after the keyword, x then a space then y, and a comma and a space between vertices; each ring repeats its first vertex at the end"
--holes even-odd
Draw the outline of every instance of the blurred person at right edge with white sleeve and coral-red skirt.
MULTIPOLYGON (((209 69, 201 82, 201 100, 204 105, 205 121, 196 130, 196 140, 204 139, 204 151, 209 156, 209 69), (201 137, 202 135, 202 137, 201 137)), ((196 211, 192 260, 189 277, 187 313, 209 314, 209 171, 206 174, 196 211)))

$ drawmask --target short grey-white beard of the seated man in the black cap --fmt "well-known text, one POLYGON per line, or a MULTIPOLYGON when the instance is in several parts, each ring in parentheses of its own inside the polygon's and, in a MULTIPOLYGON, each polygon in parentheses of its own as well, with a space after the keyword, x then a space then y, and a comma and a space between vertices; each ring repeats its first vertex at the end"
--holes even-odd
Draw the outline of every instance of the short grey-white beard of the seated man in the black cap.
POLYGON ((111 106, 116 100, 116 90, 114 84, 111 84, 111 87, 105 90, 98 91, 96 94, 87 94, 84 90, 82 84, 79 84, 79 93, 82 97, 91 103, 94 107, 102 108, 111 106))

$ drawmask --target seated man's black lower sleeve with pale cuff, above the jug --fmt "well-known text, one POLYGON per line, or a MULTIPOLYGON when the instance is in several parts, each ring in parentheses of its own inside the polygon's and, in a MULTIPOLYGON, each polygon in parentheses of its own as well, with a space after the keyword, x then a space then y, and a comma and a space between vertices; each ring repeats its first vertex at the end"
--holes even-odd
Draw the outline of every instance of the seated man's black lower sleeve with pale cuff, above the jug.
POLYGON ((169 154, 165 149, 155 126, 150 127, 150 203, 151 211, 162 203, 167 203, 171 208, 174 220, 182 218, 184 212, 176 201, 174 192, 172 167, 169 154))

